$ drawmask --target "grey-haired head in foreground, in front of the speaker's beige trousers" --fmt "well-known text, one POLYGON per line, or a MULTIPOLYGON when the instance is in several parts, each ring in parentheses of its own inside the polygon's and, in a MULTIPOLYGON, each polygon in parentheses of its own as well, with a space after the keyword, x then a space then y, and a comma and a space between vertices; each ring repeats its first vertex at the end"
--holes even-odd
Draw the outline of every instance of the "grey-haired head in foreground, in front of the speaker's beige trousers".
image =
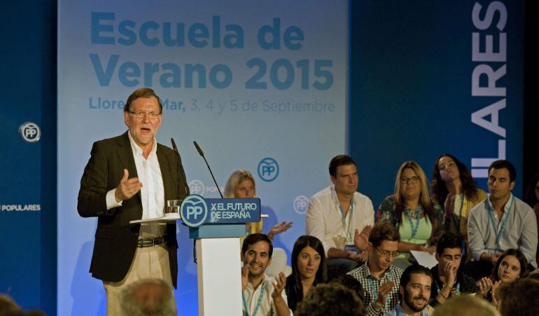
POLYGON ((176 315, 176 302, 172 287, 160 279, 134 282, 120 294, 122 315, 172 316, 176 315))

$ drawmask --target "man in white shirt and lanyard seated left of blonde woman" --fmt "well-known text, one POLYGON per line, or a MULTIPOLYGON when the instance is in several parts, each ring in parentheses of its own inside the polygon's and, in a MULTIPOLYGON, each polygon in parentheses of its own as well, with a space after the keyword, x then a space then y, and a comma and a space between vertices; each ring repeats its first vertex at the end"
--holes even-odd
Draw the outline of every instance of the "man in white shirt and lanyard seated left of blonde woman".
POLYGON ((365 233, 368 236, 374 224, 374 207, 370 198, 356 191, 358 169, 350 156, 332 158, 329 172, 332 186, 311 197, 306 226, 307 235, 323 243, 328 274, 332 275, 349 272, 367 259, 367 252, 355 247, 355 240, 366 239, 365 233))

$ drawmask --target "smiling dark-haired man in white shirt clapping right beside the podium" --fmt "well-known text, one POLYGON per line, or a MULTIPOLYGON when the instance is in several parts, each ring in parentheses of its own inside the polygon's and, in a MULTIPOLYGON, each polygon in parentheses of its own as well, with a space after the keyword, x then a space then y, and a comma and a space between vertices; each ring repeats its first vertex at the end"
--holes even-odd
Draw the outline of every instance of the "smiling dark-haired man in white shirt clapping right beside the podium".
MULTIPOLYGON (((272 261, 273 245, 267 235, 253 233, 244 239, 241 246, 241 296, 244 315, 288 316, 290 310, 283 289, 286 285, 284 273, 274 280, 265 275, 272 261)), ((273 278, 272 278, 273 279, 273 278)))

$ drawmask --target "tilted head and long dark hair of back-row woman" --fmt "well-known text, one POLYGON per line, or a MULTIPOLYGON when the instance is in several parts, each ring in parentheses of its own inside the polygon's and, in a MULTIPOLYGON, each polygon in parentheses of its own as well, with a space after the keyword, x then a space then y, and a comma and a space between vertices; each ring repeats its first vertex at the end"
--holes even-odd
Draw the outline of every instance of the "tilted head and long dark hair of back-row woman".
POLYGON ((434 163, 433 181, 430 182, 430 191, 433 193, 432 198, 435 198, 443 205, 449 193, 447 185, 451 184, 454 179, 461 181, 461 190, 466 197, 470 199, 477 197, 477 184, 466 165, 461 163, 455 156, 444 153, 434 163))

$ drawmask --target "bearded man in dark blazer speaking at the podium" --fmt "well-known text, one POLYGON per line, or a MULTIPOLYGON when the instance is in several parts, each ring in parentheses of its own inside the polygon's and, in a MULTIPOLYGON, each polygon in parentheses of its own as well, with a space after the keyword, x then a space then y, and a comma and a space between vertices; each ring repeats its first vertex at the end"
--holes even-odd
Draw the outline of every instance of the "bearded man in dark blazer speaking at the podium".
MULTIPOLYGON (((163 278, 177 287, 176 224, 167 224, 165 231, 157 224, 141 229, 130 221, 160 217, 167 200, 188 195, 179 155, 155 140, 162 119, 155 92, 149 88, 133 92, 125 104, 124 118, 128 132, 94 143, 80 180, 77 205, 81 217, 98 218, 90 272, 105 284, 109 315, 118 312, 120 287, 136 281, 130 269, 139 252, 166 249, 170 279, 168 275, 163 278), (146 238, 148 232, 151 238, 146 238), (111 284, 113 291, 118 290, 114 295, 111 284)), ((144 273, 140 275, 144 269, 136 269, 134 274, 144 277, 144 273)))

